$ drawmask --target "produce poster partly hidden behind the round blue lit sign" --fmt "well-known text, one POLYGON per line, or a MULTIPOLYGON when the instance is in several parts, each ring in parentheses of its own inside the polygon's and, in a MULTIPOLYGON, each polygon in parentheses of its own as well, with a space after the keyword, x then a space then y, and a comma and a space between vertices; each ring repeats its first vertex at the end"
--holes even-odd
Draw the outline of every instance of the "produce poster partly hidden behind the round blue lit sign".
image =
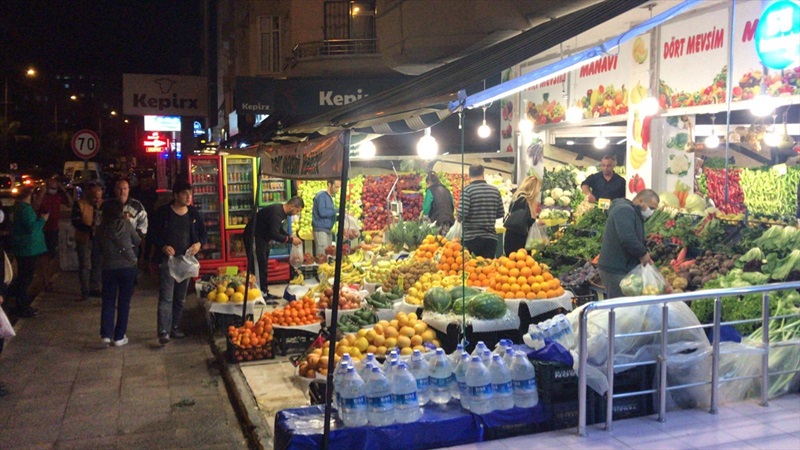
POLYGON ((795 64, 783 71, 763 72, 754 40, 762 13, 761 2, 736 2, 735 12, 733 100, 750 100, 761 94, 762 82, 765 83, 769 95, 800 95, 800 65, 795 64))

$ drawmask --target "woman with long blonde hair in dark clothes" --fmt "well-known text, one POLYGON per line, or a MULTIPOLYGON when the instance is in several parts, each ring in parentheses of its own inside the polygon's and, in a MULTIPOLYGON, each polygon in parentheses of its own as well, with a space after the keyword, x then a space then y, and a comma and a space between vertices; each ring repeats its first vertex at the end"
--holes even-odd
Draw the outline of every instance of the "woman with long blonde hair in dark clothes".
POLYGON ((520 183, 503 226, 506 229, 503 238, 503 250, 506 255, 525 248, 528 230, 536 222, 539 215, 539 199, 542 194, 542 180, 531 175, 520 183))

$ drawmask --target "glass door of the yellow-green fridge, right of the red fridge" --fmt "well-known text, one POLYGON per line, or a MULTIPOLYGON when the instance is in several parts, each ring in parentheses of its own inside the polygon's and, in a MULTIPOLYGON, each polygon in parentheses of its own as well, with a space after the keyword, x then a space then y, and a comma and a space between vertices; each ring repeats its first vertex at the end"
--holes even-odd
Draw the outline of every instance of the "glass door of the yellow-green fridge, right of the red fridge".
POLYGON ((225 158, 226 228, 241 229, 247 225, 255 188, 253 162, 250 157, 225 158))

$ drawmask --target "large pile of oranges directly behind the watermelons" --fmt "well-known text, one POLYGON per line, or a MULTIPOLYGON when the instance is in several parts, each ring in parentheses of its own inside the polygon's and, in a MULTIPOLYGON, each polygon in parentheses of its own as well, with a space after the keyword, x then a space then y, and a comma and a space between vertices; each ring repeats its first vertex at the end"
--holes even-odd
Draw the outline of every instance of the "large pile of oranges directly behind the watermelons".
MULTIPOLYGON (((539 265, 524 249, 511 253, 508 257, 496 259, 494 266, 496 273, 488 279, 486 286, 489 292, 503 298, 534 300, 555 298, 564 294, 558 278, 553 277, 546 267, 539 265)), ((480 274, 478 281, 480 282, 480 274)))

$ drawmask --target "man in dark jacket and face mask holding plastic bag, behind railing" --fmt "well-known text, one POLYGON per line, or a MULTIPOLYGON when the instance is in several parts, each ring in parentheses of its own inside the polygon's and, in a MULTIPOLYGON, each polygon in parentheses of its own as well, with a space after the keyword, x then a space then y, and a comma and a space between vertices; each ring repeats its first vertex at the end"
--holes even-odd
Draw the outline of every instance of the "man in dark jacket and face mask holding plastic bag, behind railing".
POLYGON ((651 264, 644 240, 644 221, 658 208, 658 194, 645 189, 633 200, 611 202, 603 231, 603 245, 597 264, 606 287, 606 298, 623 297, 619 282, 637 265, 651 264))

